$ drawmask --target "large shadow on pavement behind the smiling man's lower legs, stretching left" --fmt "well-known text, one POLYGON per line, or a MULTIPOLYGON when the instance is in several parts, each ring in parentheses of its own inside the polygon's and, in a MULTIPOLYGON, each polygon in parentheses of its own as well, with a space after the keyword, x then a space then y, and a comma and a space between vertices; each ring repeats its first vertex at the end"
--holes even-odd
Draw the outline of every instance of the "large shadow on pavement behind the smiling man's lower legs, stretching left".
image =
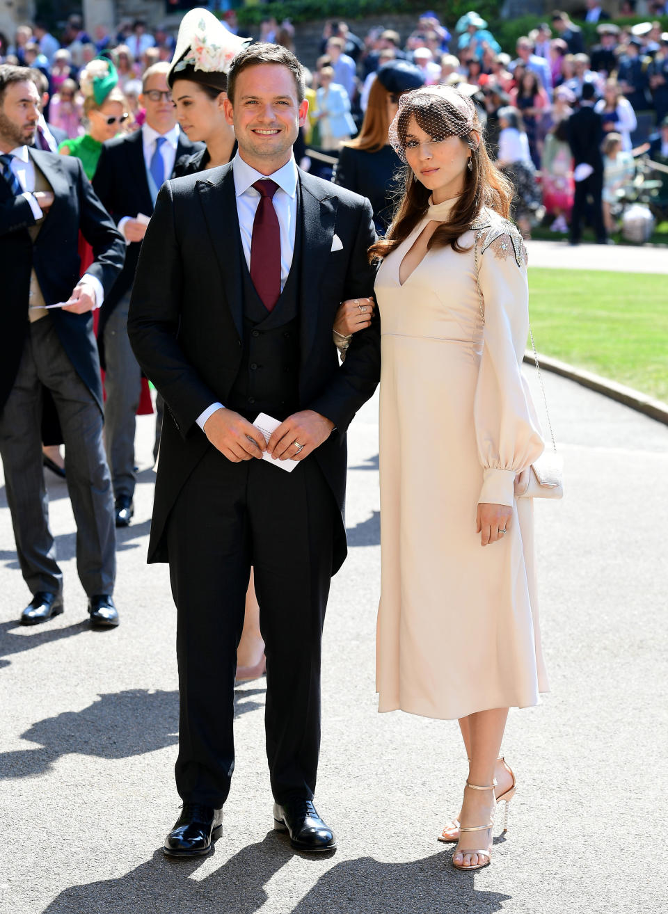
MULTIPOLYGON (((247 714, 263 701, 263 688, 235 694, 235 717, 247 714), (250 699, 250 700, 249 700, 250 699)), ((61 756, 78 753, 100 759, 127 759, 173 746, 178 741, 178 692, 128 689, 101 695, 81 711, 47 717, 21 734, 39 743, 37 748, 0 753, 1 778, 43 774, 61 756)))

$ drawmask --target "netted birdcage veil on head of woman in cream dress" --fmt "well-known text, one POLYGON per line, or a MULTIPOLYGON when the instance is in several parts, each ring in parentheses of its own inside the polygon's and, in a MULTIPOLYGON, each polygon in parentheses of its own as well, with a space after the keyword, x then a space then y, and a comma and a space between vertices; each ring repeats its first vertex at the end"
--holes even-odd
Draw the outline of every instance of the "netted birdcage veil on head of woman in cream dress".
POLYGON ((398 112, 389 125, 389 143, 402 162, 406 162, 406 134, 411 117, 435 140, 448 136, 468 136, 480 124, 471 99, 452 86, 422 86, 404 92, 398 112))

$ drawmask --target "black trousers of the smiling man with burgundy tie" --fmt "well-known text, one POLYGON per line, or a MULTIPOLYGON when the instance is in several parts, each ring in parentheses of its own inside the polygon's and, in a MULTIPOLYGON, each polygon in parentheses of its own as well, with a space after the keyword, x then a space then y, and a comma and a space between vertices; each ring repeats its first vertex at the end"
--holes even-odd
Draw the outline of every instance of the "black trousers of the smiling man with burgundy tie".
POLYGON ((313 456, 292 473, 209 448, 168 520, 177 608, 176 787, 220 807, 234 771, 234 676, 251 566, 266 643, 265 729, 277 802, 313 798, 334 496, 313 456))

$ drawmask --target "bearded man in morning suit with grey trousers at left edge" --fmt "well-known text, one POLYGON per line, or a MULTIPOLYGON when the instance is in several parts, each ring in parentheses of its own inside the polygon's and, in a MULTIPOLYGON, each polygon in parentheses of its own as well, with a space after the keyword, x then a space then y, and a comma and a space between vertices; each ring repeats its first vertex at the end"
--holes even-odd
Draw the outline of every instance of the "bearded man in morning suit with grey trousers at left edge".
POLYGON ((79 159, 34 148, 39 94, 27 68, 0 66, 0 456, 16 553, 33 594, 28 625, 63 611, 42 473, 42 390, 58 410, 77 523, 77 569, 93 625, 117 625, 115 533, 102 446, 100 361, 91 310, 122 268, 124 245, 79 159), (80 276, 79 231, 94 261, 80 276), (65 303, 62 307, 53 307, 65 303))

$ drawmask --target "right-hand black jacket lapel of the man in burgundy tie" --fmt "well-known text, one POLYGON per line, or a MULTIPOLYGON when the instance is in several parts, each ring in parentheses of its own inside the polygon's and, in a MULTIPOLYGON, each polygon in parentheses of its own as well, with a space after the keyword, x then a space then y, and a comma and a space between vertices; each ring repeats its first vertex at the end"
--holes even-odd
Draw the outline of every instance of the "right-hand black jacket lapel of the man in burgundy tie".
MULTIPOLYGON (((336 197, 326 187, 299 169, 302 204, 302 263, 300 289, 302 299, 302 366, 311 355, 321 317, 321 290, 327 261, 332 252, 336 197)), ((331 314, 326 314, 327 320, 331 314)))

